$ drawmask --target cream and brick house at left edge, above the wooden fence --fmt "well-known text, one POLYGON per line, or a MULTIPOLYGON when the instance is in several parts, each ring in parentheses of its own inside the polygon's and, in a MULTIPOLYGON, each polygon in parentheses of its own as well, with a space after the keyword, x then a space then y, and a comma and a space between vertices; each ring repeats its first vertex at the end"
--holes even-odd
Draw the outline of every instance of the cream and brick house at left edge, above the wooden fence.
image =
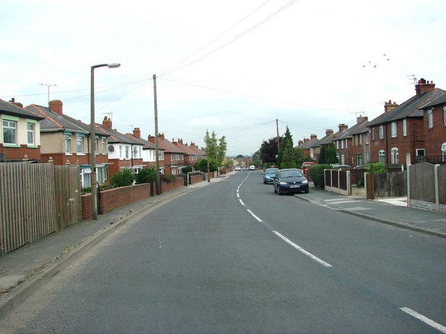
POLYGON ((22 104, 0 100, 0 162, 39 160, 40 120, 44 118, 23 109, 22 104))

